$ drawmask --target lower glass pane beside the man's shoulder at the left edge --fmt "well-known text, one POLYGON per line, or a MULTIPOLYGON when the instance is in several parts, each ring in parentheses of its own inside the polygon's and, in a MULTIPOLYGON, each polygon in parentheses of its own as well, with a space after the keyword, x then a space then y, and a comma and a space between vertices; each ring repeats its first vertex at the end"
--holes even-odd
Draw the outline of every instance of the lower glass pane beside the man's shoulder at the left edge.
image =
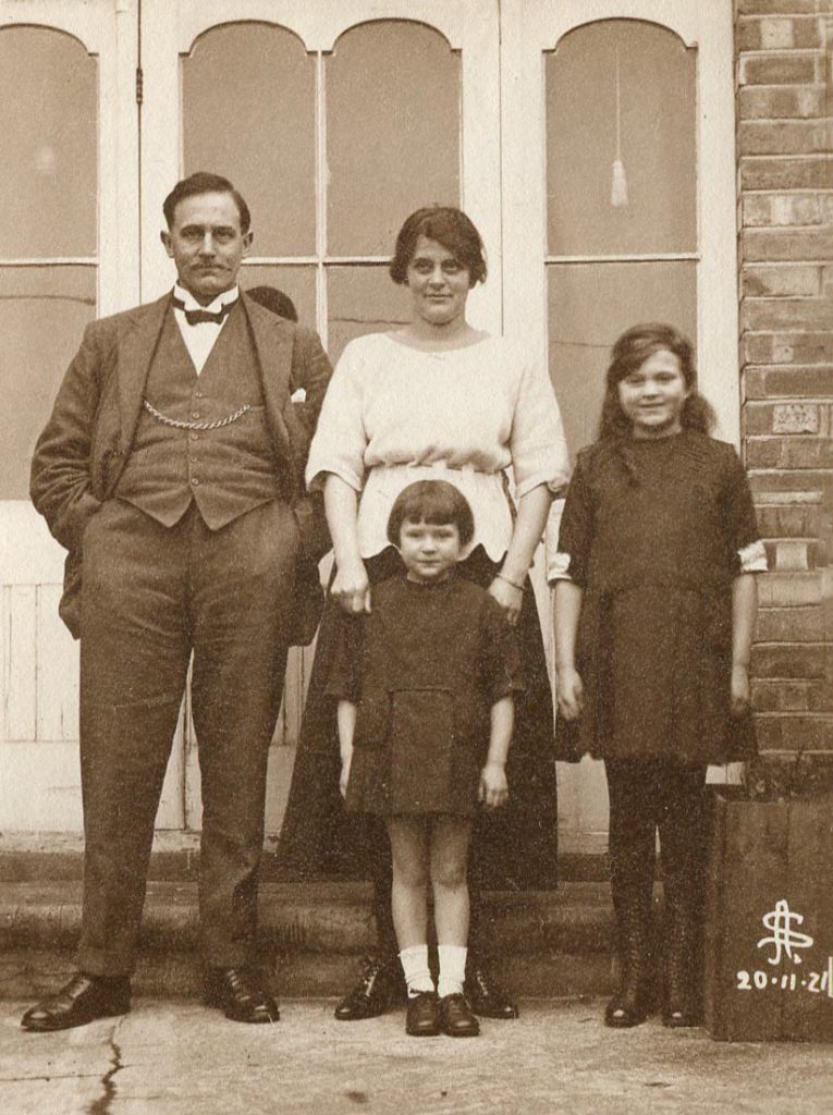
POLYGON ((29 498, 29 463, 96 312, 95 268, 0 268, 0 500, 29 498))

